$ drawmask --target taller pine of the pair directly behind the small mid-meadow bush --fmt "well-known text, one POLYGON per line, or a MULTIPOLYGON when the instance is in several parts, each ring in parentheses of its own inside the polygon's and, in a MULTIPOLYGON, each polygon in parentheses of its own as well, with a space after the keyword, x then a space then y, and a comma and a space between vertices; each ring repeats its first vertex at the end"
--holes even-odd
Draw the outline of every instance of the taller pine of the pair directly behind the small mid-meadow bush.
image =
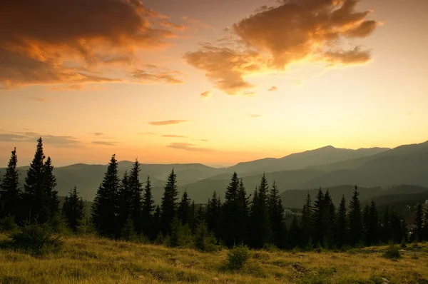
MULTIPOLYGON (((221 234, 225 245, 231 247, 235 245, 235 238, 238 235, 239 216, 236 212, 238 207, 238 191, 239 191, 238 174, 233 173, 232 179, 226 189, 225 202, 222 207, 221 234)), ((239 241, 240 240, 236 240, 239 241)))

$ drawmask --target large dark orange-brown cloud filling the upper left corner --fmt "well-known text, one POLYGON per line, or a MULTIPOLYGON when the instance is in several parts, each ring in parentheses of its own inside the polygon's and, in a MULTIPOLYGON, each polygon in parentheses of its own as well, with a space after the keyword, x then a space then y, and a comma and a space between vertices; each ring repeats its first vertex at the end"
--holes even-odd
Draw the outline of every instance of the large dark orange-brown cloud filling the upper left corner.
POLYGON ((137 49, 167 45, 175 34, 164 19, 138 0, 8 1, 0 9, 0 88, 126 81, 126 70, 101 67, 135 64, 137 49))

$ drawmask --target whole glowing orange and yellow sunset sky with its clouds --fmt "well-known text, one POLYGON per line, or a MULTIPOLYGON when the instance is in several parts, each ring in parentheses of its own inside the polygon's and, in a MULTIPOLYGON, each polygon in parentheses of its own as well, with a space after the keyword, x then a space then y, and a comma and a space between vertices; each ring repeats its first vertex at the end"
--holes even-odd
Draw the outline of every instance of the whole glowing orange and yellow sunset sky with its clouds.
MULTIPOLYGON (((230 166, 428 140, 426 0, 15 0, 0 163, 230 166)), ((0 164, 0 165, 1 165, 0 164)))

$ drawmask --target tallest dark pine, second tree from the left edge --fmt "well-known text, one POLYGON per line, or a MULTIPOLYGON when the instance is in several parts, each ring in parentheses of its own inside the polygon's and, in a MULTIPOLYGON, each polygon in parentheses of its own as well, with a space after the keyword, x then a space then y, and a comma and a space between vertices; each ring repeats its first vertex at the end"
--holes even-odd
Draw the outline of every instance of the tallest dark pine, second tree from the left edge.
POLYGON ((24 184, 24 215, 23 218, 37 220, 45 223, 49 216, 46 212, 46 199, 44 194, 44 152, 41 137, 37 139, 36 153, 27 170, 24 184))

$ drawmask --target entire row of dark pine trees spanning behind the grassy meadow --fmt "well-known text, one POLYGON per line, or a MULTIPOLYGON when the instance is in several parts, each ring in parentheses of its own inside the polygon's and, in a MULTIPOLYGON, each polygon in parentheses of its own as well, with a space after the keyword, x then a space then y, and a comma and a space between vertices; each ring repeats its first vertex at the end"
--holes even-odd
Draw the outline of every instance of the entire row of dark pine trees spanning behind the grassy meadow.
MULTIPOLYGON (((36 220, 49 223, 63 218, 73 232, 87 220, 82 198, 72 188, 59 210, 56 178, 51 158, 46 158, 43 142, 37 141, 36 153, 26 173, 24 191, 19 186, 16 148, 0 181, 0 218, 36 220), (46 159, 46 160, 45 160, 46 159)), ((307 194, 301 218, 294 215, 286 225, 280 191, 275 181, 270 186, 265 174, 260 185, 248 194, 242 178, 233 173, 224 200, 214 191, 205 206, 195 205, 187 191, 178 196, 177 176, 172 170, 164 186, 161 204, 155 205, 150 177, 140 181, 140 163, 122 177, 116 156, 111 157, 88 222, 96 233, 108 238, 144 239, 169 245, 187 245, 205 240, 228 247, 243 243, 252 248, 275 245, 291 248, 344 248, 428 240, 428 211, 419 203, 413 228, 394 210, 379 213, 376 204, 360 203, 357 186, 349 206, 345 196, 336 208, 330 193, 307 194), (196 236, 196 238, 195 238, 196 236)), ((85 227, 86 228, 86 227, 85 227)))

